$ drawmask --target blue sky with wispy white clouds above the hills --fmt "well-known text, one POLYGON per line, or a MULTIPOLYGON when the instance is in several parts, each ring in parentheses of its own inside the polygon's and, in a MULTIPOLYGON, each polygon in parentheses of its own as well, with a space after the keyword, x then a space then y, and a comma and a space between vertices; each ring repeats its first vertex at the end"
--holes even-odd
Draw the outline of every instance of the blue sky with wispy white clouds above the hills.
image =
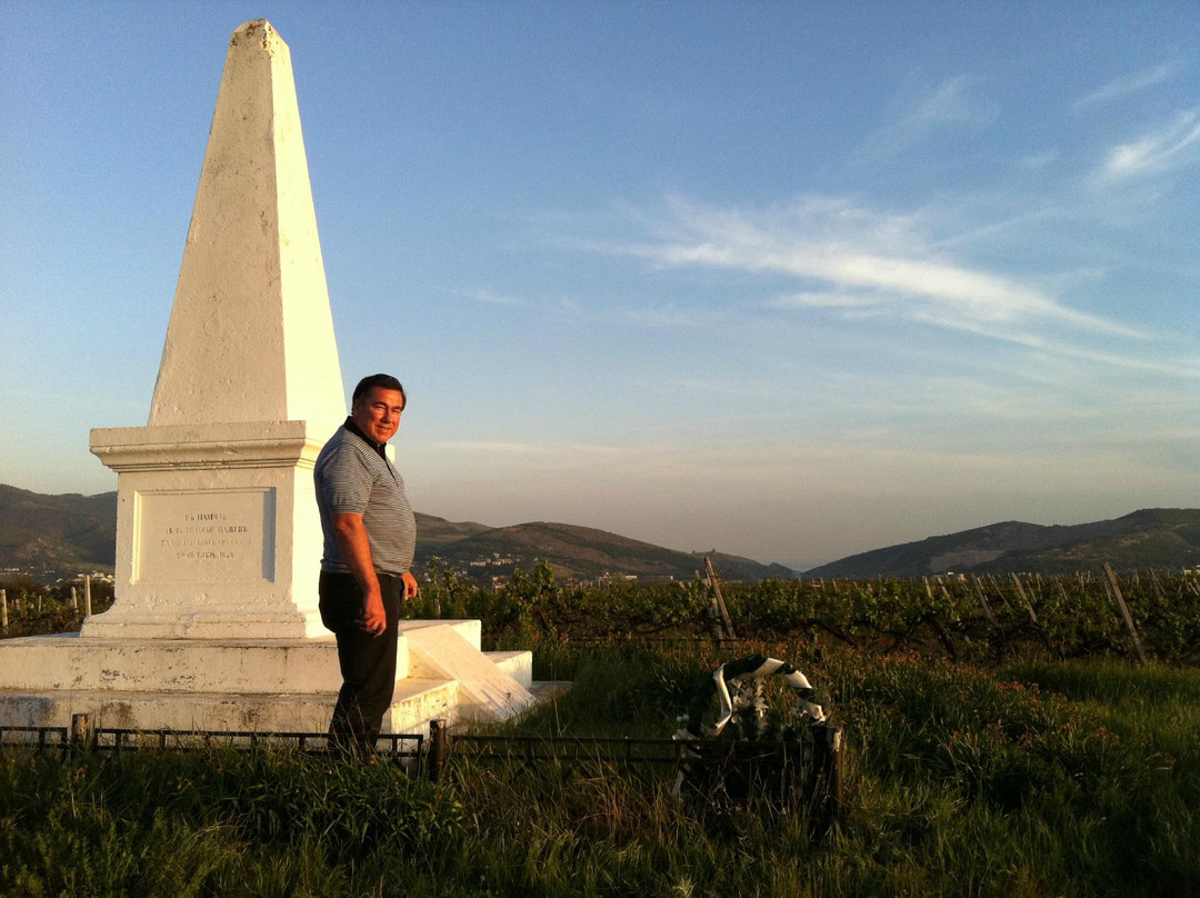
POLYGON ((115 489, 262 17, 419 510, 803 565, 1200 505, 1193 2, 5 0, 0 481, 115 489))

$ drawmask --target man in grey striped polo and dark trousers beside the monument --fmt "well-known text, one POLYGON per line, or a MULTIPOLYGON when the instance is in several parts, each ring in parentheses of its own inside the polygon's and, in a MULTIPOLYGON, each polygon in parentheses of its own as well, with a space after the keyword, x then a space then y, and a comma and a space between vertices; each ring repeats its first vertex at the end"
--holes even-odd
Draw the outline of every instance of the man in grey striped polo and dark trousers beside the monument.
POLYGON ((416 517, 385 444, 407 399, 390 375, 354 388, 350 417, 317 456, 313 478, 325 550, 320 619, 337 636, 342 689, 329 724, 335 744, 370 752, 396 686, 396 636, 404 599, 416 595, 409 571, 416 517))

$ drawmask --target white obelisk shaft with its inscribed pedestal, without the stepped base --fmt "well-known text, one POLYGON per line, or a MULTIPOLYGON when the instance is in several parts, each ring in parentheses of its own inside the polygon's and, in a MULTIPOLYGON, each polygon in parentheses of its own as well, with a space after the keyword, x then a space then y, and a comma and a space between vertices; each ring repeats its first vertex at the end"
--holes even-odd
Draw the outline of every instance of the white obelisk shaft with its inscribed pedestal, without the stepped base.
POLYGON ((145 427, 118 472, 116 600, 85 636, 324 634, 312 466, 344 418, 288 47, 229 41, 145 427))

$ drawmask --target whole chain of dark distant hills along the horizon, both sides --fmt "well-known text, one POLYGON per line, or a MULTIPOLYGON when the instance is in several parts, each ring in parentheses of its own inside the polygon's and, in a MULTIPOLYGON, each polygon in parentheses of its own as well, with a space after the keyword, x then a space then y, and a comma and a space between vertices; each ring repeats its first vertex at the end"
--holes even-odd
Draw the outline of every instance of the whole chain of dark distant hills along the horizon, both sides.
MULTIPOLYGON (((536 521, 488 527, 418 513, 416 568, 432 557, 478 582, 548 562, 556 575, 690 580, 708 555, 722 577, 791 579, 781 564, 709 552, 682 552, 616 533, 536 521)), ((0 568, 41 576, 112 570, 116 546, 116 493, 47 496, 0 484, 0 568)), ((1200 509, 1142 509, 1109 521, 1043 526, 1004 521, 914 543, 876 549, 804 571, 805 577, 916 577, 947 571, 1070 574, 1096 570, 1200 567, 1200 509)), ((316 563, 316 562, 314 562, 316 563)))

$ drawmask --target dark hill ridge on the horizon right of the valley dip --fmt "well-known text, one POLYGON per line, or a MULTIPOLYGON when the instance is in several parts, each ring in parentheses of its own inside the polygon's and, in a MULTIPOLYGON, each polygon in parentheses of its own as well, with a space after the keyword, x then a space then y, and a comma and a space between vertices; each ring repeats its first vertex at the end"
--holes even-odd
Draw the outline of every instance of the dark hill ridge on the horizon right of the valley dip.
POLYGON ((1110 521, 1042 526, 1004 521, 860 552, 804 571, 805 577, 1072 574, 1115 568, 1200 565, 1200 509, 1150 508, 1110 521))

